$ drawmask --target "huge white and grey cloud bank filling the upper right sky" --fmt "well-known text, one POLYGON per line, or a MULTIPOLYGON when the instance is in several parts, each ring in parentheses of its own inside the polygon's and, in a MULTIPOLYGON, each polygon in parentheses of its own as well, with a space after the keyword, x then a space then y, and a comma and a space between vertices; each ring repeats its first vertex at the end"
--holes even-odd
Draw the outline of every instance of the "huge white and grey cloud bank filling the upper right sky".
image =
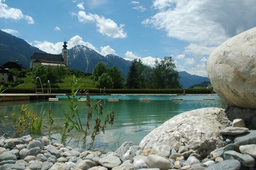
POLYGON ((206 76, 207 58, 228 38, 256 26, 256 0, 154 0, 156 14, 142 24, 188 42, 177 69, 206 76), (246 17, 245 17, 246 16, 246 17))

